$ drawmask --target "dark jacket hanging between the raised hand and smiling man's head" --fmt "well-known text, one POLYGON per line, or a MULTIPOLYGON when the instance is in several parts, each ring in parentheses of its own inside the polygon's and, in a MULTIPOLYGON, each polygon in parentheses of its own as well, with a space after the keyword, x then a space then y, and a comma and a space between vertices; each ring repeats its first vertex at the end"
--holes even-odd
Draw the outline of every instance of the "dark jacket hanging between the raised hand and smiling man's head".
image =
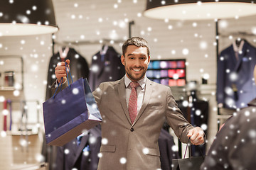
POLYGON ((92 91, 94 91, 102 82, 116 81, 121 79, 124 74, 124 65, 121 62, 121 55, 111 46, 107 47, 105 54, 102 51, 97 52, 92 57, 92 64, 90 67, 89 84, 92 91))

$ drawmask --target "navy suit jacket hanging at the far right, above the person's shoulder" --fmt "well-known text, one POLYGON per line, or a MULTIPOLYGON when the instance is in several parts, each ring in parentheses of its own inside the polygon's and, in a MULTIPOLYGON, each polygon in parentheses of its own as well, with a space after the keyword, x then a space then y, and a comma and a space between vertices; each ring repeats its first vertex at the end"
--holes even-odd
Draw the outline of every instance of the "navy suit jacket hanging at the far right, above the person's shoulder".
POLYGON ((224 108, 242 108, 256 96, 253 69, 256 48, 244 40, 242 51, 235 56, 234 47, 220 52, 217 73, 217 101, 224 108))

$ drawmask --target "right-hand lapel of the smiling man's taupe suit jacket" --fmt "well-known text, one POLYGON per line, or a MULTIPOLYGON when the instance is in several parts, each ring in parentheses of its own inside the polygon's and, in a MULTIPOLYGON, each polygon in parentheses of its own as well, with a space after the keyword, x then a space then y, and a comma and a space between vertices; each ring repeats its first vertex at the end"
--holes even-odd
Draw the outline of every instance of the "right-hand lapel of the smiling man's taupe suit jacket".
POLYGON ((137 120, 139 120, 139 118, 142 116, 142 113, 144 113, 144 110, 146 109, 146 106, 149 104, 149 100, 150 100, 150 96, 152 94, 153 88, 152 88, 152 81, 150 81, 148 78, 146 78, 145 88, 146 89, 145 89, 145 94, 144 94, 144 100, 142 101, 142 108, 139 110, 139 113, 138 113, 137 117, 134 120, 134 124, 137 123, 137 120))

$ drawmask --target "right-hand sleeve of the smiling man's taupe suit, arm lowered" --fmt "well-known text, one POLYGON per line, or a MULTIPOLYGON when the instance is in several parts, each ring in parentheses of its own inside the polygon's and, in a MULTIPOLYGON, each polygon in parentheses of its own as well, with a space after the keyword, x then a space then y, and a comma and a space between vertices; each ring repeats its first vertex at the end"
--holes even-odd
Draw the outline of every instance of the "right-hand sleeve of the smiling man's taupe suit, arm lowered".
POLYGON ((166 120, 178 139, 183 143, 187 143, 188 130, 191 130, 193 126, 183 117, 181 110, 174 100, 174 96, 171 94, 170 88, 167 91, 166 120))

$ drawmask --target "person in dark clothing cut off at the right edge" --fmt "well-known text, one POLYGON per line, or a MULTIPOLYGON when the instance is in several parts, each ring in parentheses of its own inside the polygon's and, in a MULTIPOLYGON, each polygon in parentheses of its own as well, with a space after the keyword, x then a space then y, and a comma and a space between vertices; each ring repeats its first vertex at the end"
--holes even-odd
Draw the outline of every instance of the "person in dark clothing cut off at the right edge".
MULTIPOLYGON (((254 68, 256 83, 256 66, 254 68)), ((248 89, 250 90, 250 89, 248 89)), ((256 98, 227 120, 217 133, 201 170, 251 170, 256 167, 256 98)))

